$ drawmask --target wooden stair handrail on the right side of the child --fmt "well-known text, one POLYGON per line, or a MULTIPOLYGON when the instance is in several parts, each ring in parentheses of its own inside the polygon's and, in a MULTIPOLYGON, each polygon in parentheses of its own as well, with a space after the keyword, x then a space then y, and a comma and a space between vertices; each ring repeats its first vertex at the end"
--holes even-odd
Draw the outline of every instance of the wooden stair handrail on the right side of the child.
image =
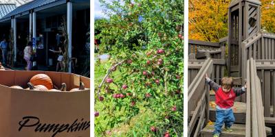
POLYGON ((256 63, 251 58, 247 61, 247 91, 245 136, 266 136, 263 101, 261 98, 261 82, 256 72, 256 63))

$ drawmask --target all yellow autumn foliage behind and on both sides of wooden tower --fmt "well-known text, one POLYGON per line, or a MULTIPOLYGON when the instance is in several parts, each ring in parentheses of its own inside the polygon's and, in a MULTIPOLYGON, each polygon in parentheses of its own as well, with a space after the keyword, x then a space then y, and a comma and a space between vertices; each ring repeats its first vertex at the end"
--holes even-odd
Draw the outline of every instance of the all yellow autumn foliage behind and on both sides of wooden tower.
MULTIPOLYGON (((230 0, 190 0, 189 39, 219 42, 228 36, 230 0)), ((275 33, 275 1, 261 1, 261 28, 275 33)))

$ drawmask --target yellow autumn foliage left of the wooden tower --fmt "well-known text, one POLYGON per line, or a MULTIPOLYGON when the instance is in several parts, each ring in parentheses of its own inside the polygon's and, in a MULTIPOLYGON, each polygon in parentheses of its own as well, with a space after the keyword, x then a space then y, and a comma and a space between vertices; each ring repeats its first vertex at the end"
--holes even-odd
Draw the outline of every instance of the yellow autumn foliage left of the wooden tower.
POLYGON ((219 42, 228 35, 230 0, 189 0, 189 39, 219 42))

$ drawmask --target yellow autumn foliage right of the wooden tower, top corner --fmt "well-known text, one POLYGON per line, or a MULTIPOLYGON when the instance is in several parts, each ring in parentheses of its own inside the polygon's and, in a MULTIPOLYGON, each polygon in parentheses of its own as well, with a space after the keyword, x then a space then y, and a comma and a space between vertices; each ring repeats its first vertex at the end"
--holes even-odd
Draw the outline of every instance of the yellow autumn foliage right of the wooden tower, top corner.
POLYGON ((275 1, 261 0, 261 27, 265 31, 275 33, 275 1))

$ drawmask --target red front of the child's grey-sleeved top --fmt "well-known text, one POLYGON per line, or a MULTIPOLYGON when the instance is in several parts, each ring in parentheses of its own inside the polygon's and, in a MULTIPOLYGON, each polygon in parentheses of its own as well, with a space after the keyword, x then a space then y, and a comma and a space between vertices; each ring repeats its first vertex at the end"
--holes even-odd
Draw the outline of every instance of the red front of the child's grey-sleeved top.
POLYGON ((215 94, 215 98, 215 102, 220 108, 231 108, 234 105, 236 94, 232 88, 230 92, 224 92, 223 89, 219 87, 215 94))

